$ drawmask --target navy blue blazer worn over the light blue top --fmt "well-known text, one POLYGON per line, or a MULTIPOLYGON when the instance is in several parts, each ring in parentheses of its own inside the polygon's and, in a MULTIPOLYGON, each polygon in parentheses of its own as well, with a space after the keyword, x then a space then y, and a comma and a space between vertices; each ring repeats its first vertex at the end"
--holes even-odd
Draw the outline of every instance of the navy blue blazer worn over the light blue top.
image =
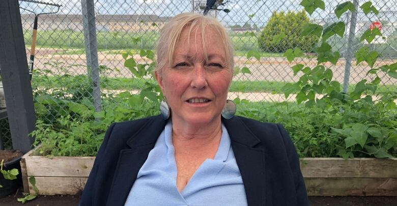
MULTIPOLYGON (((281 124, 239 116, 222 122, 231 138, 248 205, 309 205, 295 146, 281 124)), ((165 124, 160 116, 111 124, 80 205, 124 205, 165 124)))

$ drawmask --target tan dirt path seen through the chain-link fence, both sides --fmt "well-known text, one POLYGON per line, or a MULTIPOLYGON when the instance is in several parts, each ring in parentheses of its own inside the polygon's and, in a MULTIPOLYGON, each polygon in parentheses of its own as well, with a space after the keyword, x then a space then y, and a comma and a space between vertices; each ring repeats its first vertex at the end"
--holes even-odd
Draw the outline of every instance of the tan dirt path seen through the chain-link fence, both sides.
MULTIPOLYGON (((57 71, 56 68, 46 65, 47 62, 62 62, 64 63, 63 68, 66 73, 77 75, 86 74, 86 55, 66 55, 62 49, 51 49, 51 48, 40 48, 38 49, 38 54, 35 57, 35 68, 36 69, 49 69, 51 71, 57 71)), ((130 77, 132 74, 124 66, 124 60, 120 54, 114 54, 116 51, 102 51, 98 53, 99 65, 105 65, 111 70, 108 72, 109 77, 130 77), (115 69, 117 68, 117 69, 115 69)), ((138 55, 134 56, 134 59, 138 62, 145 62, 138 55)), ((250 69, 251 74, 237 74, 234 76, 234 80, 249 80, 249 81, 278 81, 278 82, 296 82, 299 80, 298 76, 293 76, 293 71, 290 68, 295 64, 304 64, 306 66, 315 66, 316 59, 310 58, 297 58, 293 63, 289 63, 285 58, 282 57, 262 57, 261 61, 256 59, 247 60, 245 57, 235 57, 236 66, 239 68, 247 67, 250 69)), ((377 66, 384 64, 392 64, 397 62, 397 60, 378 60, 377 66)), ((334 73, 334 78, 338 82, 343 82, 344 71, 345 71, 345 60, 341 59, 338 63, 333 66, 327 64, 329 68, 334 73)), ((366 72, 370 69, 365 64, 355 65, 352 62, 352 67, 350 69, 350 83, 357 83, 362 79, 371 80, 366 76, 366 72)), ((381 84, 396 84, 397 79, 390 78, 386 76, 381 78, 381 84)))

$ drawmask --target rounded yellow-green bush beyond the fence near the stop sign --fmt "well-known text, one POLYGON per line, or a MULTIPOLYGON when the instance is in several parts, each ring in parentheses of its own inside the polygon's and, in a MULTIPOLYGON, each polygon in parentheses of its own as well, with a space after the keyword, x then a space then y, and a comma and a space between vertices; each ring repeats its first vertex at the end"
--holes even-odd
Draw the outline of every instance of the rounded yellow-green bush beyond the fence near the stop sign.
POLYGON ((301 36, 303 25, 309 23, 304 11, 273 12, 258 37, 259 48, 271 53, 284 53, 288 48, 300 48, 310 52, 319 38, 315 35, 301 36))

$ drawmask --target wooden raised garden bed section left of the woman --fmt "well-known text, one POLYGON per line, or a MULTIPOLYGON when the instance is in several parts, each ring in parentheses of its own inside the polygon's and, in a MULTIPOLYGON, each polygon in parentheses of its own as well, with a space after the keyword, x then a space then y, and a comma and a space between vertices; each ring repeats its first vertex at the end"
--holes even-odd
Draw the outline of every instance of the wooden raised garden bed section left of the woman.
POLYGON ((90 175, 95 157, 33 156, 34 150, 21 159, 24 192, 36 194, 29 177, 34 176, 40 195, 80 194, 90 175))

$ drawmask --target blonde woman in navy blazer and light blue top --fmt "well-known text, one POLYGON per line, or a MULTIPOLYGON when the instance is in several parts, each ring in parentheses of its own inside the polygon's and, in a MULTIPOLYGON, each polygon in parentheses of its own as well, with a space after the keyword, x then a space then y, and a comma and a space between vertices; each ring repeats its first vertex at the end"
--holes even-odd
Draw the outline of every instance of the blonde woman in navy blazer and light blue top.
POLYGON ((233 68, 216 19, 187 13, 165 24, 161 115, 109 127, 80 205, 308 205, 285 129, 233 117, 233 68))

